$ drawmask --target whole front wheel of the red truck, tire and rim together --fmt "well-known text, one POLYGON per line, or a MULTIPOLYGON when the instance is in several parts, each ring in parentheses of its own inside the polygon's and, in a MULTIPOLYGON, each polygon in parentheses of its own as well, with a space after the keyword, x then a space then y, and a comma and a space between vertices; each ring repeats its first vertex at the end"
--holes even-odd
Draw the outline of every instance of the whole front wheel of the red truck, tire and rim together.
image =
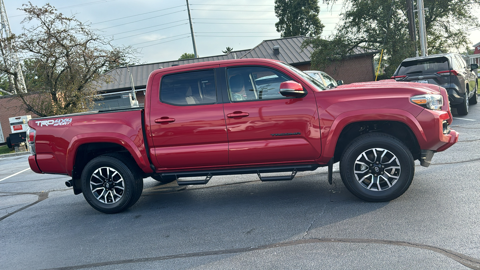
POLYGON ((415 163, 408 147, 396 137, 384 133, 358 136, 340 159, 343 184, 353 195, 370 202, 385 202, 401 196, 412 183, 414 174, 415 163), (376 170, 378 175, 374 176, 376 170))

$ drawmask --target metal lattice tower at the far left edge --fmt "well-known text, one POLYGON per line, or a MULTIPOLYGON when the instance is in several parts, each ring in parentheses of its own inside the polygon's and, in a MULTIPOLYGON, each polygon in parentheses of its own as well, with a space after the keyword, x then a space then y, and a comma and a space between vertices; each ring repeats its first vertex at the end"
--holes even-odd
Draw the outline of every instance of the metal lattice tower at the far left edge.
MULTIPOLYGON (((3 0, 0 0, 0 19, 1 19, 1 28, 0 34, 1 37, 10 37, 12 36, 12 30, 10 29, 10 24, 8 23, 7 11, 5 10, 5 4, 3 0)), ((15 81, 15 77, 12 74, 8 75, 8 80, 11 86, 14 84, 17 85, 17 89, 20 92, 26 93, 27 87, 25 86, 24 74, 22 73, 22 66, 20 65, 20 60, 18 60, 18 56, 15 52, 12 52, 10 48, 8 48, 8 44, 1 44, 1 53, 3 57, 3 62, 6 65, 14 66, 15 72, 17 73, 17 81, 15 81)), ((11 87, 14 90, 15 94, 18 94, 15 87, 11 87)))

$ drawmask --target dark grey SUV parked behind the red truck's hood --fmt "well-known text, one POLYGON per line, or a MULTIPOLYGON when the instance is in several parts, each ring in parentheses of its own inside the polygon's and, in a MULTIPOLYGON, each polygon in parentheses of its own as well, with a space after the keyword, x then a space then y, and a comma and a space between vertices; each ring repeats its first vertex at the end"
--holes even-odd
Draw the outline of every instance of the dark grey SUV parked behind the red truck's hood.
POLYGON ((458 53, 433 54, 407 58, 392 79, 402 82, 434 84, 448 92, 450 106, 459 115, 468 114, 468 104, 477 104, 478 64, 467 63, 458 53))

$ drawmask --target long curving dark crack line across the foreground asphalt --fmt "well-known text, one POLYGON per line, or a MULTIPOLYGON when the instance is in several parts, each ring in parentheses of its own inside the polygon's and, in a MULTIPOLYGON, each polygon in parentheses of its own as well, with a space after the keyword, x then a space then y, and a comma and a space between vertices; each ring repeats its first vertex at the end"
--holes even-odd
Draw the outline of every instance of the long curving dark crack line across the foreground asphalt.
POLYGON ((270 245, 260 245, 260 246, 250 246, 243 248, 232 248, 232 249, 222 249, 222 250, 212 250, 212 251, 203 251, 203 252, 193 252, 193 253, 183 253, 183 254, 174 254, 167 256, 158 256, 158 257, 149 257, 149 258, 132 258, 124 260, 113 260, 106 262, 97 262, 91 264, 59 267, 59 268, 48 268, 43 270, 75 270, 75 269, 86 269, 93 267, 109 266, 109 265, 120 265, 128 263, 141 263, 141 262, 152 262, 152 261, 161 261, 168 259, 176 258, 196 258, 204 256, 216 256, 216 255, 225 255, 225 254, 237 254, 250 251, 266 250, 277 247, 286 247, 294 245, 304 245, 304 244, 315 244, 315 243, 347 243, 347 244, 379 244, 379 245, 396 245, 396 246, 405 246, 405 247, 414 247, 425 249, 429 251, 436 252, 438 254, 444 255, 447 258, 451 258, 460 264, 474 270, 480 270, 480 260, 477 258, 469 257, 465 254, 455 252, 442 247, 437 247, 433 245, 423 245, 413 242, 406 241, 393 241, 393 240, 383 240, 383 239, 363 239, 363 238, 307 238, 299 239, 295 241, 280 242, 270 245))

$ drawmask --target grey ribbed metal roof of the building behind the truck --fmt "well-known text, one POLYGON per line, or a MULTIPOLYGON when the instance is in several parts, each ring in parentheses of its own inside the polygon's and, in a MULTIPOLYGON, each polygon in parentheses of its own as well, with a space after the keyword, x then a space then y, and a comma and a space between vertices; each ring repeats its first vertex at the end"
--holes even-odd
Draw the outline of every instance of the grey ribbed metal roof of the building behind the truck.
MULTIPOLYGON (((141 64, 129 66, 130 73, 132 74, 133 84, 135 89, 144 89, 147 84, 148 75, 154 70, 159 68, 171 67, 172 65, 183 65, 205 61, 218 61, 235 59, 249 59, 249 58, 265 58, 272 60, 284 61, 289 64, 300 64, 310 62, 310 54, 313 51, 312 47, 308 46, 305 49, 301 49, 302 42, 311 37, 298 36, 298 37, 283 37, 276 39, 264 40, 253 49, 236 50, 228 54, 199 57, 186 60, 176 60, 167 62, 157 62, 150 64, 141 64), (274 54, 272 47, 279 46, 279 54, 274 54)), ((372 49, 363 49, 357 47, 353 49, 353 53, 349 57, 376 54, 379 51, 372 49)), ((130 78, 127 71, 127 67, 120 67, 114 70, 108 71, 106 75, 112 77, 111 83, 103 83, 101 91, 121 91, 131 89, 130 78)))

